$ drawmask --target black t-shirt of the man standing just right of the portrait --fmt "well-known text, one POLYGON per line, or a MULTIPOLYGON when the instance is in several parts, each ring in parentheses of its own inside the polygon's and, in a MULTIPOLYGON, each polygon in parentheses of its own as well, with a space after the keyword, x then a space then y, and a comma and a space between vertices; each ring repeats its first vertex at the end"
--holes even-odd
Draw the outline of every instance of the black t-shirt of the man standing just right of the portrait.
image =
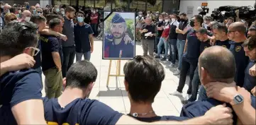
MULTIPOLYGON (((152 32, 152 34, 154 34, 157 31, 157 26, 154 23, 152 23, 151 25, 148 25, 148 24, 145 23, 140 28, 140 30, 143 30, 143 29, 147 29, 148 32, 152 32)), ((143 32, 141 34, 142 35, 141 39, 143 39, 143 40, 155 40, 155 36, 152 36, 152 37, 148 36, 147 38, 145 37, 145 34, 148 33, 148 32, 143 32)))

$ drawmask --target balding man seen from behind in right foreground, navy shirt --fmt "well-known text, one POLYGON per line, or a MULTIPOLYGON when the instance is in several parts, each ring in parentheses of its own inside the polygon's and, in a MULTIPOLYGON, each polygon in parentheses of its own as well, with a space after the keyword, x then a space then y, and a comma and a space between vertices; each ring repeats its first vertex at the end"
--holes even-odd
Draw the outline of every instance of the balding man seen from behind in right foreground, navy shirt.
MULTIPOLYGON (((220 46, 208 47, 204 49, 204 52, 199 56, 199 76, 201 84, 207 86, 208 84, 212 84, 211 82, 223 82, 226 85, 230 85, 233 83, 235 78, 235 67, 234 55, 228 49, 220 46)), ((214 86, 214 84, 212 85, 214 86)), ((214 90, 218 89, 219 88, 214 88, 214 90)), ((230 95, 232 94, 233 93, 230 93, 230 95)), ((225 102, 228 107, 239 107, 243 104, 244 98, 246 98, 247 103, 247 97, 243 96, 244 95, 242 93, 235 93, 229 101, 207 98, 206 100, 191 102, 182 107, 181 117, 193 118, 202 116, 208 111, 208 109, 211 109, 211 107, 221 105, 225 102)), ((248 98, 250 98, 250 103, 255 109, 255 97, 250 97, 249 95, 248 98)), ((240 114, 241 112, 238 112, 238 110, 233 112, 233 124, 237 124, 238 118, 242 122, 245 121, 244 119, 246 118, 240 114)))

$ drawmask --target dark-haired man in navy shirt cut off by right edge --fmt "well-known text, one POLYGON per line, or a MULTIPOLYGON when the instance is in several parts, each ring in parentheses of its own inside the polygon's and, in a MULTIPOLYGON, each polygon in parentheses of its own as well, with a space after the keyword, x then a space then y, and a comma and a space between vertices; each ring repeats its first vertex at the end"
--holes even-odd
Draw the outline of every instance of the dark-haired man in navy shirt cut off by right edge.
MULTIPOLYGON (((250 62, 245 69, 245 83, 243 88, 252 92, 252 89, 256 88, 256 74, 250 74, 250 69, 252 66, 256 65, 256 35, 245 40, 243 43, 243 49, 245 51, 245 55, 250 58, 250 62)), ((252 93, 252 95, 255 95, 255 93, 252 93)))

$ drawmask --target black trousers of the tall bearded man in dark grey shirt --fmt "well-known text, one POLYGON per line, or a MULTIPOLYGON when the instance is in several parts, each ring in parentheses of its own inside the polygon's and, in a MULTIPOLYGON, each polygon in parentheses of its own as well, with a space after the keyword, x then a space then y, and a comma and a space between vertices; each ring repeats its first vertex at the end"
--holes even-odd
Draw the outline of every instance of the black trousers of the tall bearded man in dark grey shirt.
POLYGON ((76 54, 76 49, 72 47, 62 47, 63 53, 63 63, 62 63, 62 77, 65 78, 67 71, 70 66, 74 63, 74 56, 76 54))

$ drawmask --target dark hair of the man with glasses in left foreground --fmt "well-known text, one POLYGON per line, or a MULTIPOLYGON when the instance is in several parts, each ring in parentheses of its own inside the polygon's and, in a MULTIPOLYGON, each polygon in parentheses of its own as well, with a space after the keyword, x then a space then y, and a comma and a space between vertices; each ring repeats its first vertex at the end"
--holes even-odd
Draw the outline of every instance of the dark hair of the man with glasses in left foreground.
POLYGON ((38 26, 32 22, 8 23, 0 34, 0 56, 16 56, 26 47, 35 47, 38 44, 37 30, 38 26))

